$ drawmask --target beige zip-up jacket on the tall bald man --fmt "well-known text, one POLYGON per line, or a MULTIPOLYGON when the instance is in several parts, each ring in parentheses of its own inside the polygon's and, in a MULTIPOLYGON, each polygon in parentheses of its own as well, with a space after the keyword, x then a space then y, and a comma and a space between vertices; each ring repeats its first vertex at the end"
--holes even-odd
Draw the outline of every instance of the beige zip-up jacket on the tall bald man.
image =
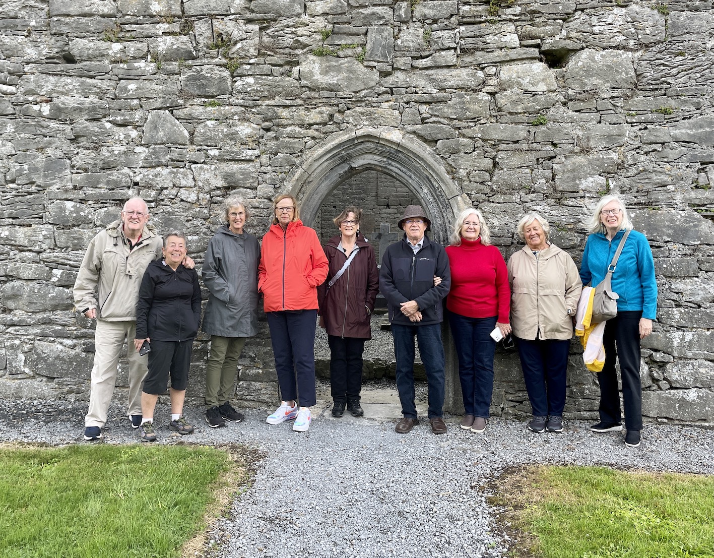
POLYGON ((144 271, 161 256, 163 241, 156 227, 144 225, 133 250, 124 237, 121 221, 114 221, 89 243, 74 282, 74 307, 79 312, 96 308, 106 322, 136 320, 136 302, 144 271))

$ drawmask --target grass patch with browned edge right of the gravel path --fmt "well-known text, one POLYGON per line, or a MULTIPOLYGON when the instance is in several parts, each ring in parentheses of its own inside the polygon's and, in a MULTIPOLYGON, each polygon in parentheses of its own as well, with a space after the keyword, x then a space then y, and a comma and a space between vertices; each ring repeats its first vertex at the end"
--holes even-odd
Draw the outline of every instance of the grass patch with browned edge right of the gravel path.
POLYGON ((528 467, 498 483, 523 555, 544 558, 714 556, 714 477, 528 467), (524 534, 525 533, 525 534, 524 534))

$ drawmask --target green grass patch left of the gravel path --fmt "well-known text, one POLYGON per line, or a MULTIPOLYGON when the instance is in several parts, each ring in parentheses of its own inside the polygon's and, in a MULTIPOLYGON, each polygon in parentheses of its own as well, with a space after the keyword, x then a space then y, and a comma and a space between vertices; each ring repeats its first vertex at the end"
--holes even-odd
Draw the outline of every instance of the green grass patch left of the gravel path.
POLYGON ((195 446, 0 449, 0 556, 178 557, 230 467, 195 446))

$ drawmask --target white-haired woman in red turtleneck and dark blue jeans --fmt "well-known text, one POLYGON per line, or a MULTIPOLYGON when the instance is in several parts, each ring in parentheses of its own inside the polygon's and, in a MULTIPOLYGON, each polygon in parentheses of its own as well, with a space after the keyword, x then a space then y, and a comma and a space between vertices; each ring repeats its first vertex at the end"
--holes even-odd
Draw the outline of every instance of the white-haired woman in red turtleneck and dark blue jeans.
POLYGON ((493 393, 495 327, 511 333, 511 289, 501 251, 491 244, 486 220, 478 209, 465 209, 453 225, 446 246, 451 267, 451 291, 446 298, 449 323, 458 355, 464 416, 461 428, 486 429, 493 393))

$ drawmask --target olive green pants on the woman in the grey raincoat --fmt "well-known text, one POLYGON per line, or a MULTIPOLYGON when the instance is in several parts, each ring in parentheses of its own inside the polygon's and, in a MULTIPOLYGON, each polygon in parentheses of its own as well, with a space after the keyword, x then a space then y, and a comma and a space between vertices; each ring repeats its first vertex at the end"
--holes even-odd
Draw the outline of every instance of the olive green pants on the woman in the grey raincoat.
POLYGON ((231 399, 236 382, 238 357, 241 356, 246 337, 220 337, 211 335, 211 352, 206 364, 206 405, 216 407, 231 399))

